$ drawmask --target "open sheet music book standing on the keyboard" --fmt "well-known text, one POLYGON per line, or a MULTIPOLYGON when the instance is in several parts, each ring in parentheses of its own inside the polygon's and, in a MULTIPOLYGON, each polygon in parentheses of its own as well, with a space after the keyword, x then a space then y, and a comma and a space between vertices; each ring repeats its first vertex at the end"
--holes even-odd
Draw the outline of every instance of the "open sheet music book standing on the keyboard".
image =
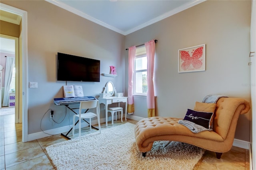
POLYGON ((82 86, 73 86, 73 85, 63 86, 63 91, 64 91, 65 98, 84 97, 82 86))

